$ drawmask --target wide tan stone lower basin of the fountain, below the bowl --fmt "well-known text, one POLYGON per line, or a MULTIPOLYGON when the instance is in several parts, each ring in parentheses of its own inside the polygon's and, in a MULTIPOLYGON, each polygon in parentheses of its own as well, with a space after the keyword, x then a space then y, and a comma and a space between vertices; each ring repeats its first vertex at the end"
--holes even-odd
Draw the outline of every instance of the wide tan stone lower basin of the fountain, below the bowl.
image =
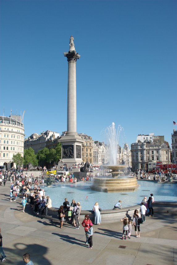
POLYGON ((95 177, 92 190, 99 192, 134 192, 139 187, 136 177, 95 177))

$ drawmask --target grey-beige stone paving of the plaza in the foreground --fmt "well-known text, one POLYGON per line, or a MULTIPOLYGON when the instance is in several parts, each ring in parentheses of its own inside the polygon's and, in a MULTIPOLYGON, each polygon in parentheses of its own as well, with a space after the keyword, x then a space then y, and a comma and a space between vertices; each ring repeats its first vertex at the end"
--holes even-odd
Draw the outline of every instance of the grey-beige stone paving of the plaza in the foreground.
POLYGON ((28 204, 23 213, 20 198, 10 202, 10 181, 0 190, 0 226, 7 256, 4 264, 24 264, 26 252, 34 265, 177 264, 176 214, 154 213, 154 218, 146 217, 141 224, 141 237, 136 238, 133 229, 131 239, 127 240, 120 239, 123 225, 119 220, 94 225, 93 248, 88 249, 82 226, 77 230, 64 223, 60 229, 57 221, 33 216, 28 204))

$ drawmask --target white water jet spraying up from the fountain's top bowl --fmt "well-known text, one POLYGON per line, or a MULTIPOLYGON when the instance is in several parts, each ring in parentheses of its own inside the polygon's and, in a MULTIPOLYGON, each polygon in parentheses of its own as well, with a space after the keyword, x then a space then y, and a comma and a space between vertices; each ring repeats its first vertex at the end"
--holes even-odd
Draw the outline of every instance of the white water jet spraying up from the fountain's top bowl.
POLYGON ((119 136, 120 132, 123 129, 120 125, 116 132, 115 123, 112 122, 112 125, 105 129, 105 133, 109 143, 109 164, 117 165, 117 153, 119 153, 119 136))

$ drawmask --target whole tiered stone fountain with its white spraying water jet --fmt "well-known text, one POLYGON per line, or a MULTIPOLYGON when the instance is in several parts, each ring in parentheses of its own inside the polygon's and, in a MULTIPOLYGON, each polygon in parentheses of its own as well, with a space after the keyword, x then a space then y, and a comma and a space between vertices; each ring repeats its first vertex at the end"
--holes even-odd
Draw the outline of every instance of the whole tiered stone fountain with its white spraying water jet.
POLYGON ((117 165, 117 147, 119 135, 122 130, 115 129, 115 124, 106 128, 106 133, 109 141, 109 161, 110 163, 102 165, 102 169, 111 171, 111 176, 100 176, 94 178, 94 183, 91 186, 92 190, 99 192, 132 192, 138 188, 136 177, 121 176, 127 169, 126 165, 117 165), (120 171, 124 170, 124 171, 120 171))

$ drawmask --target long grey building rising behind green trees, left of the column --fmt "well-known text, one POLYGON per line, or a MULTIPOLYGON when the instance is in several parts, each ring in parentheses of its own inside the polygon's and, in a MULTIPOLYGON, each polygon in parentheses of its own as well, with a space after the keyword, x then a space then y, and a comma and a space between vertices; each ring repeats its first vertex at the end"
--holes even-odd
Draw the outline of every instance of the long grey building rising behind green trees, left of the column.
POLYGON ((37 133, 33 133, 28 138, 24 140, 24 149, 32 148, 35 154, 43 149, 46 148, 55 148, 58 143, 58 138, 60 137, 59 133, 47 130, 42 132, 40 135, 37 133))

